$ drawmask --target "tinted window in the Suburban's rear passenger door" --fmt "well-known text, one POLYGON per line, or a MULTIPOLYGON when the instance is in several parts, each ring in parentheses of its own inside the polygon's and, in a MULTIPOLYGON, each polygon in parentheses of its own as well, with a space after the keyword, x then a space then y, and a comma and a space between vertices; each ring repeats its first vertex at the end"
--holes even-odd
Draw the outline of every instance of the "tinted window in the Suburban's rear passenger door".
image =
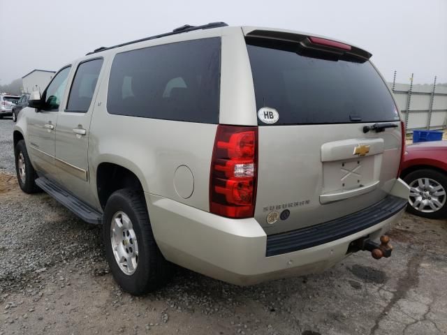
POLYGON ((89 110, 102 65, 103 59, 93 59, 78 66, 73 84, 71 84, 66 112, 87 112, 89 110))

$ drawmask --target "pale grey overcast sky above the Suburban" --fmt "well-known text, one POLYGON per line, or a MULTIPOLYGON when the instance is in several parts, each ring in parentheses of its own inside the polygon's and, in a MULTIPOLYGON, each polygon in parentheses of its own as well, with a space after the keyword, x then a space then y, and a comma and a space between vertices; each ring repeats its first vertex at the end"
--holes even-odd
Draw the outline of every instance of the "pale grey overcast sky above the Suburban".
POLYGON ((0 84, 100 46, 224 21, 330 36, 372 52, 387 80, 447 82, 447 0, 0 0, 0 84))

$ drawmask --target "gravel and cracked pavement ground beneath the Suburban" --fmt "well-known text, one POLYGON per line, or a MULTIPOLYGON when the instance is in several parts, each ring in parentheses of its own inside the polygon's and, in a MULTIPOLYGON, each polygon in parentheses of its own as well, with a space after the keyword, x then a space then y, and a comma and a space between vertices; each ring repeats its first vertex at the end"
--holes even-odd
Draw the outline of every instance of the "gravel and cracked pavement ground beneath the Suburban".
POLYGON ((447 222, 405 215, 393 256, 356 253, 323 274, 240 288, 178 269, 145 297, 122 292, 101 229, 13 175, 0 121, 0 335, 447 334, 447 222))

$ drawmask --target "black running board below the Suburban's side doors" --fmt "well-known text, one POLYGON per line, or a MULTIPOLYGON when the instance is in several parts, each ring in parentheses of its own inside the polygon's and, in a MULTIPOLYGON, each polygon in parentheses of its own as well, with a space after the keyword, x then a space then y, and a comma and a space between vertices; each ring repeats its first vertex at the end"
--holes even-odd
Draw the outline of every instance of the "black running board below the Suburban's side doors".
POLYGON ((73 211, 73 213, 82 218, 83 221, 96 225, 101 225, 103 223, 103 215, 101 213, 96 211, 96 209, 91 208, 88 204, 85 204, 85 202, 82 202, 71 193, 68 193, 64 188, 61 188, 61 186, 50 181, 50 179, 39 177, 36 179, 36 185, 65 207, 73 211))

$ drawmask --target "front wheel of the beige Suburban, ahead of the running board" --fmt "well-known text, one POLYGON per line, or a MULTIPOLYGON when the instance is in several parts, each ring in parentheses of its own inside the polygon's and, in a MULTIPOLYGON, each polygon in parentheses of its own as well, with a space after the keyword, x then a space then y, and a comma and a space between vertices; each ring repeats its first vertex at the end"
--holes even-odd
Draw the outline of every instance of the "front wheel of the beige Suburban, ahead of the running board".
POLYGON ((22 191, 29 194, 41 191, 41 188, 36 185, 38 176, 29 160, 27 146, 24 140, 17 142, 14 155, 15 172, 17 173, 17 181, 22 191))

